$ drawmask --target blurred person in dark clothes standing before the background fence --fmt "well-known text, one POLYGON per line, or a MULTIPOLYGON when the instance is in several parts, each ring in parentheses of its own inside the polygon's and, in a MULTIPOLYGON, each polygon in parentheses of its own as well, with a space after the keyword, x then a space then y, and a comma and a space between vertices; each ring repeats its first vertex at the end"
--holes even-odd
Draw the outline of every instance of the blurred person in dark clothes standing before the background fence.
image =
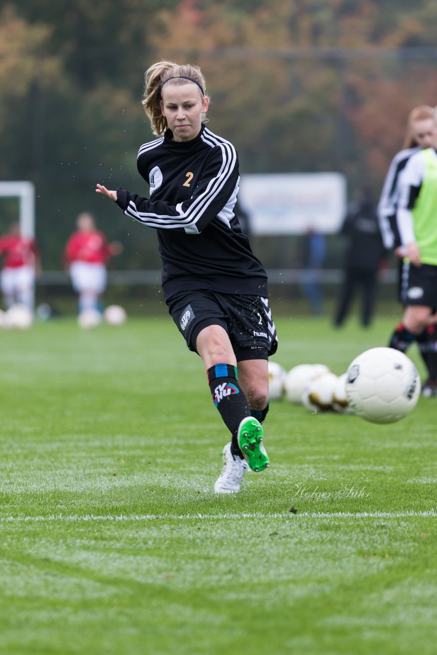
POLYGON ((362 293, 361 323, 368 327, 375 306, 378 272, 387 267, 388 252, 379 229, 377 204, 367 187, 361 189, 358 202, 349 208, 341 234, 347 238, 347 245, 334 324, 337 327, 343 324, 359 287, 362 293))

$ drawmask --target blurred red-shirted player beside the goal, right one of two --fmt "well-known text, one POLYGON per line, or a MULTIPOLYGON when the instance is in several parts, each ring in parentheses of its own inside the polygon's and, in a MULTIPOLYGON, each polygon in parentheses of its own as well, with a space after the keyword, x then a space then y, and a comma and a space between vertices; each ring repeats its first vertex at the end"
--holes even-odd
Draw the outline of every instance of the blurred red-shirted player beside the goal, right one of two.
POLYGON ((71 284, 79 294, 79 314, 88 309, 99 309, 106 288, 106 266, 114 255, 123 250, 119 242, 108 243, 96 229, 94 216, 79 214, 77 231, 71 234, 64 252, 64 263, 69 268, 71 284))

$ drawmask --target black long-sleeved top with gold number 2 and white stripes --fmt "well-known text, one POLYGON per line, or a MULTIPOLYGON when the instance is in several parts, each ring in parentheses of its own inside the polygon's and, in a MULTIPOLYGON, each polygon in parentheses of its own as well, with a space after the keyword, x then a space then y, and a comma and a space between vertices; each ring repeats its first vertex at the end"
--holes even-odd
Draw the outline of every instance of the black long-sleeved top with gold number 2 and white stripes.
POLYGON ((164 297, 190 289, 266 296, 267 274, 234 214, 233 145, 204 125, 190 141, 167 130, 140 147, 137 164, 150 198, 117 189, 117 204, 157 230, 164 297))

